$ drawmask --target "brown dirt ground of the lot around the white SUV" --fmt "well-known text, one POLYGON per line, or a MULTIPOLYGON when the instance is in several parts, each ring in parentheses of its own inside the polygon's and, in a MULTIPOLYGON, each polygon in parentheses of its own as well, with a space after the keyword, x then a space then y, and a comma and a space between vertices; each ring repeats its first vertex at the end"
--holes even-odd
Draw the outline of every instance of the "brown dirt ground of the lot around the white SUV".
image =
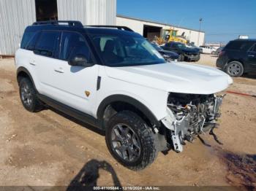
MULTIPOLYGON (((198 63, 215 66, 202 55, 198 63)), ((197 63, 197 64, 198 64, 197 63)), ((234 79, 229 88, 256 95, 256 75, 234 79)), ((12 59, 0 60, 0 185, 240 186, 256 187, 256 98, 227 93, 220 126, 184 152, 159 153, 143 171, 130 171, 108 152, 102 132, 51 109, 23 109, 12 59)), ((219 187, 225 189, 225 187, 219 187)), ((236 187, 238 189, 238 187, 236 187)))

